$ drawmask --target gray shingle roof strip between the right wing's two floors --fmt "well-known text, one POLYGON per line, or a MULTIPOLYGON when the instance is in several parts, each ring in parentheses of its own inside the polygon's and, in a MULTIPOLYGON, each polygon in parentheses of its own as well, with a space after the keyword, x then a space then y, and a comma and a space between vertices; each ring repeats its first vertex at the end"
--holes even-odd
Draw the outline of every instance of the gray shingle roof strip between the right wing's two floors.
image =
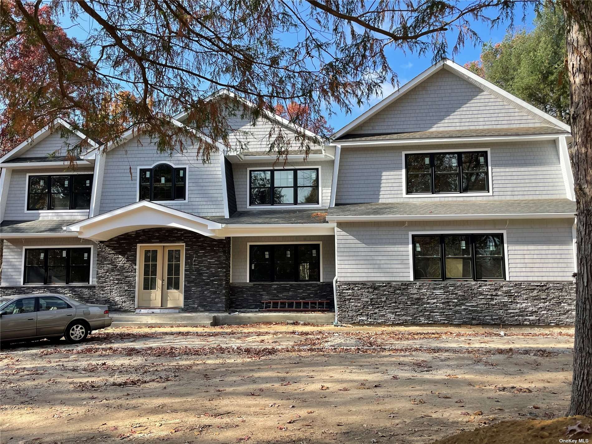
POLYGON ((338 205, 329 208, 327 218, 343 216, 480 215, 574 213, 569 199, 506 199, 488 201, 388 202, 338 205))

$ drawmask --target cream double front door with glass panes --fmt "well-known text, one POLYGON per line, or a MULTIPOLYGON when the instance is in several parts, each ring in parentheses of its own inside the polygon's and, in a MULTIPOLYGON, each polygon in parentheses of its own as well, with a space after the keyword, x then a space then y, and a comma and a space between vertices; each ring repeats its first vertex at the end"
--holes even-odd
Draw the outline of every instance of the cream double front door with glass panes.
POLYGON ((138 307, 183 307, 182 245, 138 247, 138 307))

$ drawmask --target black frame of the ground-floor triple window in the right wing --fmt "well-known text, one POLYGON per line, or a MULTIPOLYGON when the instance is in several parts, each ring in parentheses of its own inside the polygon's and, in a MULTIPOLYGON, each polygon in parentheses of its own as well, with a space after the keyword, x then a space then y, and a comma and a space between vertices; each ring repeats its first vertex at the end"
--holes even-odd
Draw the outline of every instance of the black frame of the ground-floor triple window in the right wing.
MULTIPOLYGON (((448 256, 449 258, 455 258, 456 256, 448 256)), ((468 256, 466 256, 468 257, 468 256)), ((479 257, 491 257, 491 256, 479 256, 479 257)), ((411 236, 411 260, 413 260, 413 280, 414 281, 506 281, 506 250, 504 248, 504 234, 503 233, 443 233, 443 234, 433 234, 433 233, 417 233, 411 236), (444 245, 444 238, 446 236, 468 236, 470 240, 470 247, 471 247, 471 277, 470 278, 447 278, 446 277, 446 250, 444 245), (500 250, 501 256, 501 278, 482 278, 477 279, 477 268, 475 264, 475 259, 477 258, 477 254, 475 252, 475 238, 480 236, 499 236, 501 239, 500 243, 500 250), (416 277, 416 255, 415 255, 415 238, 416 237, 439 237, 439 244, 440 244, 440 278, 417 278, 416 277)))

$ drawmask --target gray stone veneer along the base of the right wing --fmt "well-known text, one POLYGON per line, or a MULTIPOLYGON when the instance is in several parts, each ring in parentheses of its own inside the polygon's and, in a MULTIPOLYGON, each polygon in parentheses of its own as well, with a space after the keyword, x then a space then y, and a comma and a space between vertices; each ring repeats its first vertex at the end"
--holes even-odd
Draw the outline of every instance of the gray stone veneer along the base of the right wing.
POLYGON ((572 325, 575 284, 337 282, 340 323, 572 325))

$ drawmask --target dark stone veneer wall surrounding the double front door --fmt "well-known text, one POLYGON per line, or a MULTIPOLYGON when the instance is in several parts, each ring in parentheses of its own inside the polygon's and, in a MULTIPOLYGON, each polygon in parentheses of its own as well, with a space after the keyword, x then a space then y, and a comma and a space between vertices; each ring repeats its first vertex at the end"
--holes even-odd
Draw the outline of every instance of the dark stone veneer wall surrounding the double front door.
POLYGON ((137 244, 150 243, 185 243, 185 311, 228 310, 230 238, 172 228, 131 231, 98 243, 96 294, 109 301, 110 310, 135 310, 137 244))

